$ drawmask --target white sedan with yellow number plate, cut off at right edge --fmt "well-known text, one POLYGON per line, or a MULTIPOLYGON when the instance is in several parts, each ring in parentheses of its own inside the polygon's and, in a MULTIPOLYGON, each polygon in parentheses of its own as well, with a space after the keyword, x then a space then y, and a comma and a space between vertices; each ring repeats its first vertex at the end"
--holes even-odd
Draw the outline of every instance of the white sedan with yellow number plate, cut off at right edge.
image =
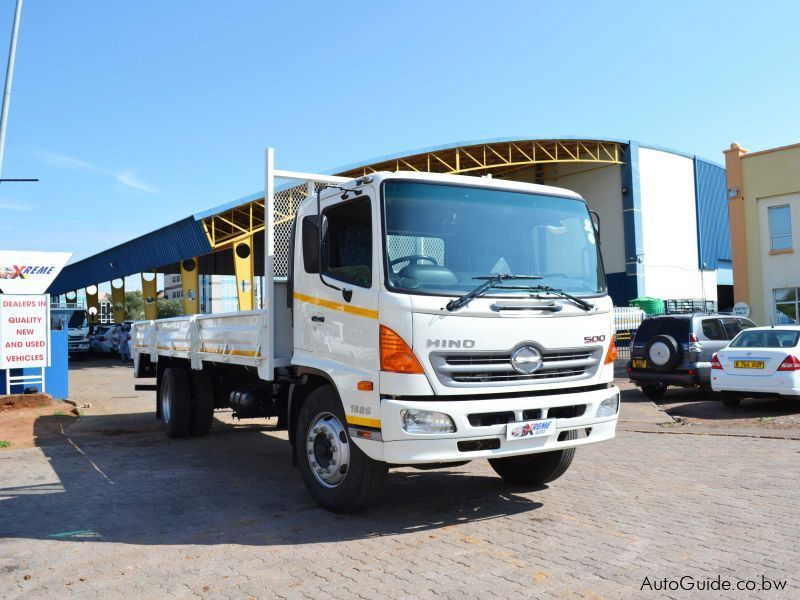
POLYGON ((800 325, 742 331, 711 359, 711 388, 725 406, 743 398, 800 396, 800 325))

